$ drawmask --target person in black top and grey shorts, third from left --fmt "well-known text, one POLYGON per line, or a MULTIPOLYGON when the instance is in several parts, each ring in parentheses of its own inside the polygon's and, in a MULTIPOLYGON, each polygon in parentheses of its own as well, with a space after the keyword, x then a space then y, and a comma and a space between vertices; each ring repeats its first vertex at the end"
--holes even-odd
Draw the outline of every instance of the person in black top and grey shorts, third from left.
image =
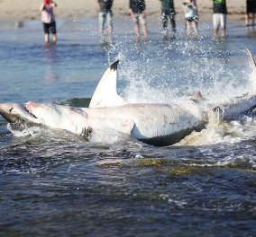
POLYGON ((135 24, 135 40, 140 40, 140 24, 142 24, 143 40, 148 39, 146 22, 146 4, 144 0, 130 0, 129 11, 135 24))

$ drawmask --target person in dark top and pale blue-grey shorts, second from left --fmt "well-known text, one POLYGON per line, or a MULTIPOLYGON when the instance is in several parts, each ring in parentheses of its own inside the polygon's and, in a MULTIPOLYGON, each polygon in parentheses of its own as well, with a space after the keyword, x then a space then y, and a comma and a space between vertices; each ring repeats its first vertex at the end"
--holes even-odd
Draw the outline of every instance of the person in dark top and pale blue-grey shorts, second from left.
POLYGON ((104 31, 105 24, 108 28, 108 40, 111 42, 113 39, 113 21, 112 21, 112 5, 113 0, 98 0, 99 13, 98 13, 98 23, 99 31, 101 34, 102 42, 105 42, 104 31))

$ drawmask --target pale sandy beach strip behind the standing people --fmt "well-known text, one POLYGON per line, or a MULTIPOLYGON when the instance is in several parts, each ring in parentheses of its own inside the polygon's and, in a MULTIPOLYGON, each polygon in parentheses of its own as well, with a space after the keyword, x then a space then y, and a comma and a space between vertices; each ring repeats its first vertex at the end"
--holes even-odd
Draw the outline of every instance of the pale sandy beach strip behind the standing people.
MULTIPOLYGON (((56 0, 58 8, 56 15, 60 18, 95 17, 98 4, 96 0, 56 0)), ((129 0, 115 0, 114 14, 123 16, 128 13, 129 0)), ((10 21, 24 21, 40 19, 39 0, 0 0, 0 18, 10 21)), ((160 1, 146 0, 147 13, 151 17, 160 15, 160 1)), ((201 19, 210 19, 212 16, 212 1, 197 0, 201 19)), ((182 0, 175 0, 178 15, 183 16, 182 0), (179 14, 180 13, 180 14, 179 14)), ((243 20, 245 13, 245 0, 227 1, 229 19, 243 20)))

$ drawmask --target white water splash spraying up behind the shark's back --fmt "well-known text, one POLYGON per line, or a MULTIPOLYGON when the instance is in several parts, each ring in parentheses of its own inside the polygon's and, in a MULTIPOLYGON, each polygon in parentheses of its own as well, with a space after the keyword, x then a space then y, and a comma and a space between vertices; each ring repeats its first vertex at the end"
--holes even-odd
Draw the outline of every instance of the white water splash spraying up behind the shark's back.
POLYGON ((119 91, 131 102, 169 102, 200 90, 209 100, 248 92, 247 57, 212 40, 118 42, 119 91), (233 57, 234 56, 234 57, 233 57))

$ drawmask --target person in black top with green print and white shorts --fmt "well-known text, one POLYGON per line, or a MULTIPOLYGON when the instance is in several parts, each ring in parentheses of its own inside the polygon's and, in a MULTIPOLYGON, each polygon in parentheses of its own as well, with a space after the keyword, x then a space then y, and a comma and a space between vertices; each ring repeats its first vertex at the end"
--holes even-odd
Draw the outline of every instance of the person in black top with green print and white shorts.
POLYGON ((225 37, 226 14, 227 14, 226 3, 225 3, 225 0, 213 0, 213 1, 214 1, 213 22, 214 22, 215 37, 218 37, 220 27, 222 29, 222 37, 225 37))

